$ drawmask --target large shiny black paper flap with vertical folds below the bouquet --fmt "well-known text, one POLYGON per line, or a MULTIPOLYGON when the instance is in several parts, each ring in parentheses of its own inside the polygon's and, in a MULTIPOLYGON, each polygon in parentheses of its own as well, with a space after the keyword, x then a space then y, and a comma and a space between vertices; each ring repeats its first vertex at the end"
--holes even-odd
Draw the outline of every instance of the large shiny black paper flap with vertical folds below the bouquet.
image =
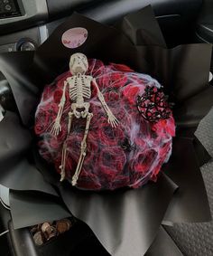
POLYGON ((112 255, 128 255, 125 254, 127 251, 131 255, 144 255, 162 223, 176 188, 171 180, 162 175, 157 184, 137 190, 97 194, 61 185, 60 194, 71 213, 92 227, 112 255))

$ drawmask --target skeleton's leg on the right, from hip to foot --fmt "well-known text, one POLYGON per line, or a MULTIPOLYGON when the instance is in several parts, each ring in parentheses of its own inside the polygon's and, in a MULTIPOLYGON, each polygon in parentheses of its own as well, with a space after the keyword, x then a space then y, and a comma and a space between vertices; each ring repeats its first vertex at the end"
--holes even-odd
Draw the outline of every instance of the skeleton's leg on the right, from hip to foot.
POLYGON ((90 121, 91 121, 92 117, 93 117, 93 114, 88 113, 87 124, 86 124, 85 132, 84 132, 84 137, 83 137, 83 140, 81 141, 81 146, 80 146, 79 163, 78 163, 78 166, 76 168, 75 174, 72 176, 72 185, 77 185, 77 181, 79 179, 79 174, 80 174, 81 168, 82 168, 83 163, 84 163, 84 158, 87 154, 86 152, 87 152, 88 128, 89 128, 90 121))

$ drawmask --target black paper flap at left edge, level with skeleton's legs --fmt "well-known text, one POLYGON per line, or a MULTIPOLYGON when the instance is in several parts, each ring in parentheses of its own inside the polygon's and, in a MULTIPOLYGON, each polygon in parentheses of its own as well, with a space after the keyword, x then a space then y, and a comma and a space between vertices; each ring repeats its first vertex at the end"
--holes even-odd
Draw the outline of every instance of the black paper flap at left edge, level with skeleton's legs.
POLYGON ((20 124, 17 115, 7 111, 0 122, 0 129, 1 184, 15 190, 40 191, 58 196, 55 189, 45 183, 41 173, 27 159, 32 136, 20 124))

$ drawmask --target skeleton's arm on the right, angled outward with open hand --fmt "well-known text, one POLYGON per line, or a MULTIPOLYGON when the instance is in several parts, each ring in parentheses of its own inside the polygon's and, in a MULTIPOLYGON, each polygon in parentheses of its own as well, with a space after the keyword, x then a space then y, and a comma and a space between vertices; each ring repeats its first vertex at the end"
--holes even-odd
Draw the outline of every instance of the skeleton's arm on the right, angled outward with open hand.
POLYGON ((93 83, 97 89, 97 98, 98 100, 100 100, 103 109, 105 109, 106 111, 106 115, 108 118, 108 123, 113 127, 116 128, 116 126, 118 126, 119 121, 116 119, 116 117, 114 116, 114 114, 112 113, 112 111, 108 108, 104 95, 101 93, 101 91, 99 90, 98 86, 97 86, 97 81, 94 79, 93 83))

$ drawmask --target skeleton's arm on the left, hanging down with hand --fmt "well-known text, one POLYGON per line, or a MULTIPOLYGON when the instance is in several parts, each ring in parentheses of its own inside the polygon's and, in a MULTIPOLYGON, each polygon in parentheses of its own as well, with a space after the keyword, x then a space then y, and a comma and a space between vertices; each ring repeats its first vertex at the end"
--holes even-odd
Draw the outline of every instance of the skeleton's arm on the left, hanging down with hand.
POLYGON ((62 113, 63 113, 64 104, 66 102, 67 84, 68 84, 68 82, 64 81, 63 94, 61 96, 60 104, 59 104, 60 109, 59 109, 57 117, 56 117, 56 119, 54 121, 53 127, 51 128, 51 134, 54 135, 54 136, 58 136, 60 131, 61 131, 60 119, 61 119, 61 116, 62 116, 62 113))

